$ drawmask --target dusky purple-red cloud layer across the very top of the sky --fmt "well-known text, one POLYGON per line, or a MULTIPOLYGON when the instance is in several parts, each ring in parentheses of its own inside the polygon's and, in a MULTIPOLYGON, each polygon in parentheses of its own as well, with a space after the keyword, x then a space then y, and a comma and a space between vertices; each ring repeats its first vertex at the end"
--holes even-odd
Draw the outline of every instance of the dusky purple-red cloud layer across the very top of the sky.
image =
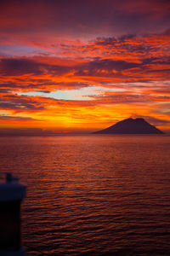
POLYGON ((158 31, 170 21, 167 0, 7 0, 0 3, 0 17, 2 32, 77 36, 158 31))

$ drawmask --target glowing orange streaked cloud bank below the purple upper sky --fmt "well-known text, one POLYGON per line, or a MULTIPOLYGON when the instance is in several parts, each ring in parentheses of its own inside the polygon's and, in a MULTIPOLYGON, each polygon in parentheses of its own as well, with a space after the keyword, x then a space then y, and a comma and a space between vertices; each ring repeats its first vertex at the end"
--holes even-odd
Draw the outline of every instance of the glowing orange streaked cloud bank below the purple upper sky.
MULTIPOLYGON (((8 22, 7 27, 12 24, 8 22)), ((20 19, 15 22, 18 26, 20 19)), ((48 36, 41 44, 40 38, 22 40, 25 47, 35 47, 32 55, 20 55, 19 50, 17 56, 1 57, 2 127, 93 131, 140 115, 152 118, 153 124, 160 120, 158 125, 170 130, 168 31, 94 40, 62 38, 60 44, 59 38, 54 44, 48 36), (44 53, 38 54, 42 48, 44 53), (82 88, 88 90, 88 100, 82 88), (75 91, 75 98, 60 98, 65 90, 75 91), (82 100, 76 100, 78 95, 82 100)))

